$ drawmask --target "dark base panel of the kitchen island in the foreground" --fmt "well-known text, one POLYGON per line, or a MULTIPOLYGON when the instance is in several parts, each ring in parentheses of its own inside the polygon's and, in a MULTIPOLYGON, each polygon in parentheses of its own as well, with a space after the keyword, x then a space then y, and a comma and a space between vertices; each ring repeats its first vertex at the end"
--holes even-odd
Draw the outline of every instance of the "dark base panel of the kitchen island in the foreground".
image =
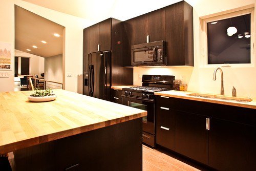
POLYGON ((15 170, 142 170, 142 119, 19 149, 15 170))

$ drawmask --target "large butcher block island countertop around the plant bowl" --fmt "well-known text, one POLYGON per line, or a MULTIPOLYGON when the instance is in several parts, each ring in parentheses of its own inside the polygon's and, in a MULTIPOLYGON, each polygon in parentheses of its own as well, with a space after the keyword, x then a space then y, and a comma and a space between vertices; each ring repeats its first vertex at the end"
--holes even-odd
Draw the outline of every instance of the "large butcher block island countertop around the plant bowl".
POLYGON ((34 91, 0 93, 0 154, 146 116, 146 111, 53 90, 56 100, 30 102, 34 91))

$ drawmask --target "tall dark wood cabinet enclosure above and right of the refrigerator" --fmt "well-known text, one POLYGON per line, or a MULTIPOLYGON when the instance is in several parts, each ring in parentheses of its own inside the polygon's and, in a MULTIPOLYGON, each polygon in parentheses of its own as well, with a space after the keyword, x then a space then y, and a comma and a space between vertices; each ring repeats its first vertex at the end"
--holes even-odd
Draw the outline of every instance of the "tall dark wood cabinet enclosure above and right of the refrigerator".
POLYGON ((123 22, 120 20, 108 18, 83 29, 83 57, 97 51, 111 51, 112 86, 133 85, 133 68, 123 67, 122 49, 123 22))

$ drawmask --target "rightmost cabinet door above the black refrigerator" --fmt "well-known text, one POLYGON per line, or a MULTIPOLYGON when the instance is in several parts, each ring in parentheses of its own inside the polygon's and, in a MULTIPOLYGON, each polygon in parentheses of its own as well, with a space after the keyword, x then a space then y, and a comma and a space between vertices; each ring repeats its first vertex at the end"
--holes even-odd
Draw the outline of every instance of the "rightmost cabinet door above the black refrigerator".
POLYGON ((111 18, 99 23, 100 51, 111 50, 111 18))

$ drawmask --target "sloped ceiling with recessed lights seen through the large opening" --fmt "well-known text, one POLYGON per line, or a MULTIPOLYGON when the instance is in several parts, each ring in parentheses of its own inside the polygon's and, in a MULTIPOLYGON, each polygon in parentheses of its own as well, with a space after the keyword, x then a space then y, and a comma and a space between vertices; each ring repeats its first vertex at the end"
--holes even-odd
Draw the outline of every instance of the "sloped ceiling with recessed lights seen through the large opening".
POLYGON ((62 54, 63 26, 15 5, 15 49, 41 57, 62 54), (60 37, 53 34, 58 33, 60 37), (45 40, 47 44, 43 44, 45 40), (35 45, 37 48, 33 48, 35 45), (31 51, 27 51, 30 49, 31 51))

